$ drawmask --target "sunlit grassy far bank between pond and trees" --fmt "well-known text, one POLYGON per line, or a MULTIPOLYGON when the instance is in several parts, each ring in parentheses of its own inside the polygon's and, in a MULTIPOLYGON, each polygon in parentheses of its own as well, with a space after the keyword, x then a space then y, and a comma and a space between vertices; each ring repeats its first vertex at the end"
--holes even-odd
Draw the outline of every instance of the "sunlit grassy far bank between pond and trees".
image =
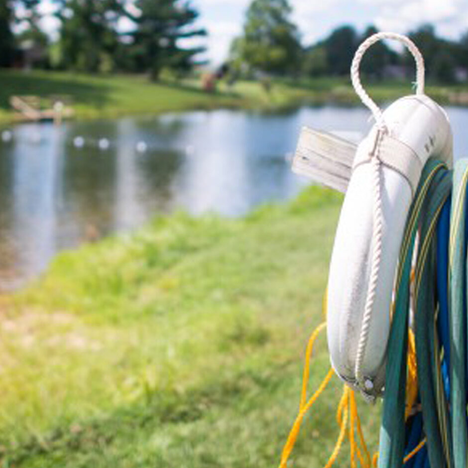
MULTIPOLYGON (((379 102, 411 92, 408 84, 371 85, 370 94, 379 102)), ((443 104, 468 105, 468 89, 428 87, 428 93, 443 104)), ((74 103, 78 118, 158 114, 167 111, 220 107, 275 110, 300 104, 358 104, 348 79, 321 78, 274 81, 270 92, 257 82, 238 82, 232 88, 221 83, 207 94, 199 81, 149 83, 144 76, 92 76, 59 72, 0 71, 0 122, 9 122, 12 95, 66 96, 74 103)))

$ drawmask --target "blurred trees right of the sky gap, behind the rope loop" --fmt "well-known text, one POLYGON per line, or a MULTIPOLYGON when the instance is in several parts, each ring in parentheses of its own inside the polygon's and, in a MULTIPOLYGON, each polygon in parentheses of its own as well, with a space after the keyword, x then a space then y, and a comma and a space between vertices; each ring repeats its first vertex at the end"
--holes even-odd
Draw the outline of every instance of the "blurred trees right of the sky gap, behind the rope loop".
MULTIPOLYGON (((239 73, 303 77, 349 75, 355 50, 377 32, 372 25, 362 33, 351 25, 343 25, 325 39, 303 46, 291 13, 288 0, 251 2, 242 34, 231 45, 230 62, 239 73)), ((443 83, 467 79, 468 30, 459 41, 453 41, 438 37, 434 26, 425 24, 409 31, 408 36, 424 55, 429 79, 443 83)), ((406 50, 396 51, 378 42, 365 54, 361 70, 375 80, 398 78, 407 73, 412 62, 406 50)))

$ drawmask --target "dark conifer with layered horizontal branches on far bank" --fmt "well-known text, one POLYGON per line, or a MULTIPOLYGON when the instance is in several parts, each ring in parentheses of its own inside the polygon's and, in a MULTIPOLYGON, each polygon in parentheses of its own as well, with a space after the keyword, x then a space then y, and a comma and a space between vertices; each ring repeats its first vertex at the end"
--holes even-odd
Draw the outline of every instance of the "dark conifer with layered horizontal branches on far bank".
POLYGON ((180 39, 206 35, 205 29, 194 27, 199 13, 190 1, 136 0, 134 6, 138 14, 128 10, 125 14, 135 29, 125 35, 135 69, 149 72, 152 80, 165 67, 189 71, 205 47, 182 47, 180 39))

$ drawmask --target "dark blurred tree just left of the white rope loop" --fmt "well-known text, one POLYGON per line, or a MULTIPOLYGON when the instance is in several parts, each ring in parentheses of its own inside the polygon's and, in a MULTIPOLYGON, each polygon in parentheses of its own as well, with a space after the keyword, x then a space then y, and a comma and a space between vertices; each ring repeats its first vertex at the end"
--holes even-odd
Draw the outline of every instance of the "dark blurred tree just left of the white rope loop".
POLYGON ((358 36, 352 26, 341 26, 325 40, 328 69, 333 75, 349 75, 358 36))

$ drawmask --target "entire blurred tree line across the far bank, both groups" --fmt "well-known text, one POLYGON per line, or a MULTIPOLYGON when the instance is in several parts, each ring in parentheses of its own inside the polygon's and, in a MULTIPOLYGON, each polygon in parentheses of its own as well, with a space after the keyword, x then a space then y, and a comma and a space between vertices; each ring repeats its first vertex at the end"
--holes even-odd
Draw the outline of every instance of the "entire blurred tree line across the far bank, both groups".
MULTIPOLYGON (((52 0, 58 37, 41 29, 41 0, 0 0, 0 66, 27 66, 85 72, 148 73, 176 76, 200 65, 203 46, 181 39, 203 37, 199 12, 190 0, 52 0), (130 25, 122 30, 121 22, 130 25)), ((231 45, 227 64, 235 76, 320 77, 348 75, 359 43, 376 32, 351 25, 304 45, 288 0, 252 0, 242 34, 231 45)), ((408 35, 421 49, 428 77, 453 83, 468 73, 468 31, 459 41, 420 26, 408 35)), ((365 55, 362 70, 375 80, 398 78, 411 66, 406 51, 377 43, 365 55)))

